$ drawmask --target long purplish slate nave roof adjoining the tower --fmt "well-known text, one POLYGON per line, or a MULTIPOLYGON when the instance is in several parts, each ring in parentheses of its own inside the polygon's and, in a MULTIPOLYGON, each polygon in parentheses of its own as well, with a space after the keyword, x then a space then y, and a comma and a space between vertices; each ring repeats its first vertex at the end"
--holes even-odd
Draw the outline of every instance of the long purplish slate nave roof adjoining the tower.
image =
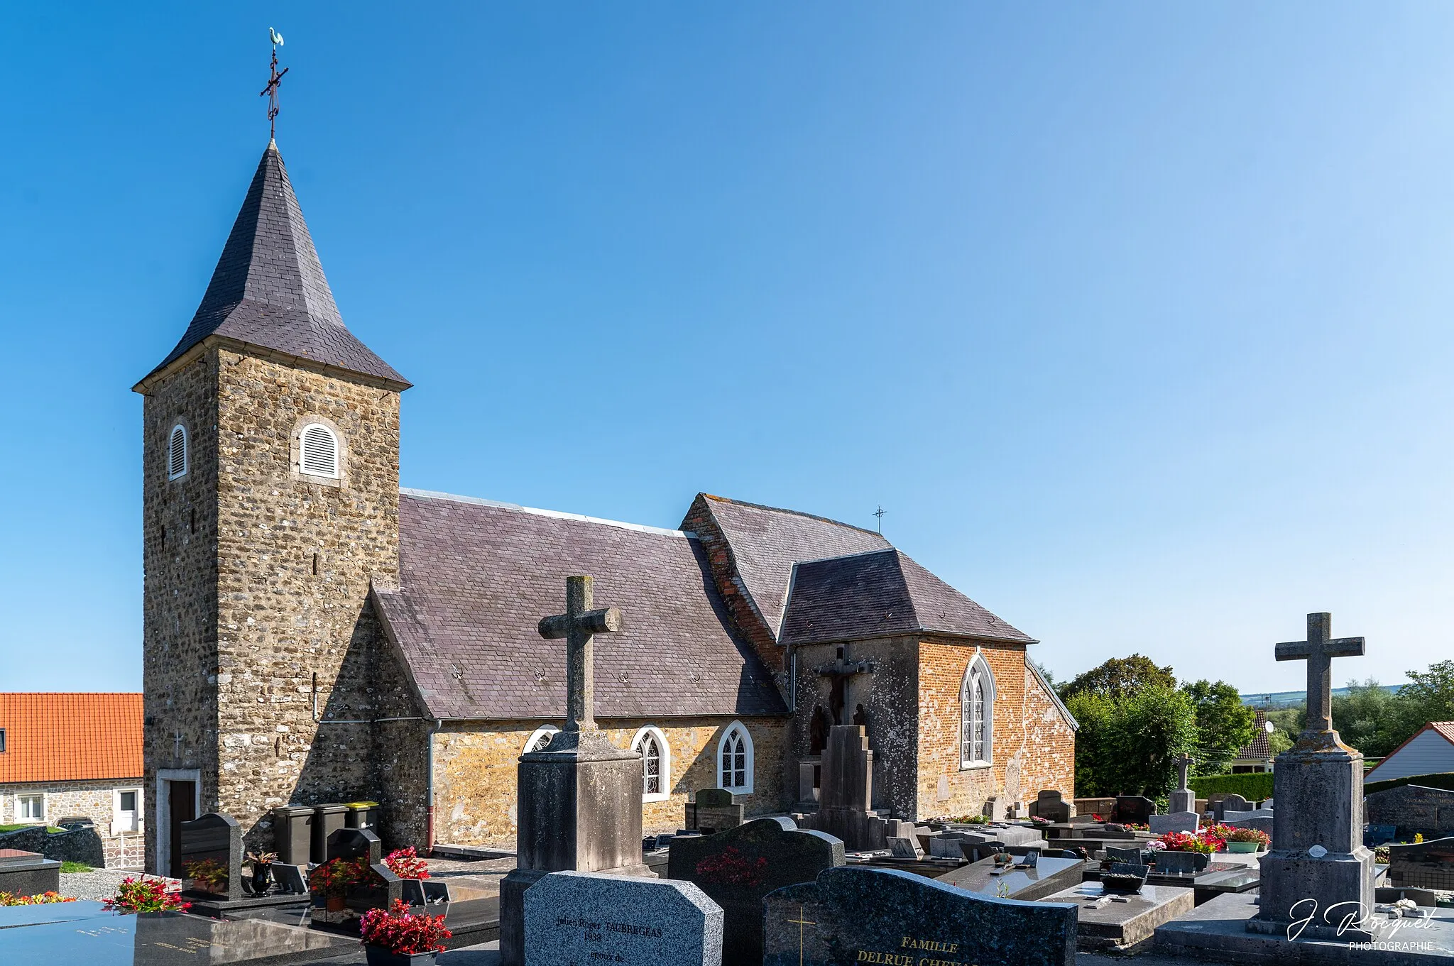
POLYGON ((787 712, 689 533, 414 490, 398 524, 400 587, 374 600, 436 718, 564 716, 566 642, 537 625, 574 574, 625 622, 595 641, 598 718, 787 712))

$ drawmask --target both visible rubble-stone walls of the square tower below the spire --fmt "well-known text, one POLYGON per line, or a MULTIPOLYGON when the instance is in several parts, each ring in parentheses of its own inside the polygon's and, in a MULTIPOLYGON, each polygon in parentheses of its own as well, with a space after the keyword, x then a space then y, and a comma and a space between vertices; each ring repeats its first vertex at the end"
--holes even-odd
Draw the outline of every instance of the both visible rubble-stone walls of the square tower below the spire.
POLYGON ((266 845, 273 805, 377 793, 369 726, 320 729, 313 675, 330 722, 372 718, 388 687, 366 596, 371 578, 398 575, 398 394, 209 349, 145 408, 148 834, 156 768, 198 767, 202 809, 231 813, 250 847, 266 845), (196 427, 195 482, 169 490, 176 411, 196 427), (337 485, 297 472, 310 420, 340 434, 337 485), (161 519, 179 526, 193 510, 190 558, 161 555, 161 519), (170 629, 179 609, 185 641, 170 629))

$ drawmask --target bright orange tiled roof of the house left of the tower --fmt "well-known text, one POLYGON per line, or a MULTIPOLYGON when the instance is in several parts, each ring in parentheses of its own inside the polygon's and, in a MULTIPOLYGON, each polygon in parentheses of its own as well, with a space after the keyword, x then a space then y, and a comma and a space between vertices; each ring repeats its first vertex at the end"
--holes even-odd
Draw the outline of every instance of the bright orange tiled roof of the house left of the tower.
POLYGON ((141 694, 0 693, 0 784, 140 779, 141 694))

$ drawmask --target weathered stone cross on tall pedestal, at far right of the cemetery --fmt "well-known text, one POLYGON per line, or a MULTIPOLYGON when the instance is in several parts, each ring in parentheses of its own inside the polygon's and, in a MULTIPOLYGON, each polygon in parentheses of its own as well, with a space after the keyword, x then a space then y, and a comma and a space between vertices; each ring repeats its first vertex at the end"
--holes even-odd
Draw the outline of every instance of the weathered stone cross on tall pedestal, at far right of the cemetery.
POLYGON ((1373 909, 1374 860, 1362 844, 1362 755, 1338 739, 1332 721, 1333 658, 1362 654, 1364 639, 1335 639, 1332 623, 1330 614, 1307 614, 1307 641, 1277 645, 1278 661, 1307 661, 1307 726, 1274 763, 1272 848, 1259 860, 1258 914, 1248 930, 1278 934, 1313 915, 1301 933, 1306 938, 1367 941, 1371 934, 1346 927, 1339 911, 1357 904, 1373 909))

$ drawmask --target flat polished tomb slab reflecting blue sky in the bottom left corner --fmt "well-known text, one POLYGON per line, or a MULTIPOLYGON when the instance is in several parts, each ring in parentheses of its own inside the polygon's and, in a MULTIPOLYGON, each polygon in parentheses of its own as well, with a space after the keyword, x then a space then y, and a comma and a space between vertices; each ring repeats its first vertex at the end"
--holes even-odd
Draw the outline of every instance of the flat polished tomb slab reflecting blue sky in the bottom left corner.
POLYGON ((0 908, 0 963, 173 966, 266 960, 316 963, 358 949, 333 937, 266 920, 221 921, 182 912, 115 915, 100 902, 0 908))

